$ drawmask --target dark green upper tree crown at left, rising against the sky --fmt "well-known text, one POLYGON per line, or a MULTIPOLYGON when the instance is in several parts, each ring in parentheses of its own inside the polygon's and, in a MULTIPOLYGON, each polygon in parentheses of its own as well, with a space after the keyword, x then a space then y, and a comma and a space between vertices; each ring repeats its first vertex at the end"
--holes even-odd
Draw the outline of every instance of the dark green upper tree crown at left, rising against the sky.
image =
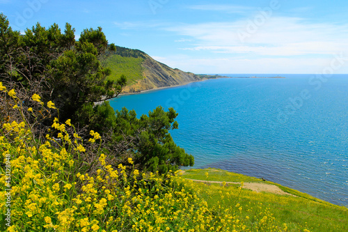
POLYGON ((43 100, 53 100, 62 121, 72 118, 78 122, 75 113, 80 108, 117 96, 127 82, 124 75, 107 79, 111 70, 102 66, 100 58, 108 45, 100 27, 85 29, 75 41, 70 24, 61 33, 57 24, 45 29, 38 23, 19 36, 1 14, 0 26, 4 38, 0 47, 1 78, 25 90, 25 101, 33 93, 40 94, 43 100))

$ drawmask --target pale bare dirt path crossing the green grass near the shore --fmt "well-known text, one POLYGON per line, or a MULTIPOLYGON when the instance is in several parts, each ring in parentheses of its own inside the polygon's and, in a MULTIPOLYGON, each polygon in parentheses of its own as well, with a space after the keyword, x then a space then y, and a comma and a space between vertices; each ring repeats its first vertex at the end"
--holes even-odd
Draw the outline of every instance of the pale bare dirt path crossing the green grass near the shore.
MULTIPOLYGON (((223 181, 212 181, 212 180, 194 180, 194 179, 188 179, 187 180, 193 180, 196 182, 202 182, 202 183, 216 183, 216 184, 222 184, 223 181)), ((233 184, 233 185, 240 185, 240 182, 226 182, 226 184, 233 184)), ((253 190, 255 192, 270 192, 273 194, 279 194, 279 195, 291 195, 287 192, 284 192, 283 190, 280 190, 280 188, 276 185, 269 185, 264 183, 244 183, 243 187, 248 190, 253 190)))

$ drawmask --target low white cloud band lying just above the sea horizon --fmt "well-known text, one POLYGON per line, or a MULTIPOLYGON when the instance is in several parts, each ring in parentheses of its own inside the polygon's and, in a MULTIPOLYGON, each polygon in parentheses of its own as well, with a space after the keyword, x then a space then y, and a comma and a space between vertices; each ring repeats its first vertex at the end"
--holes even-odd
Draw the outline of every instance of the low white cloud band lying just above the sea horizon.
MULTIPOLYGON (((330 67, 334 56, 325 58, 229 58, 229 59, 190 59, 172 56, 166 64, 194 73, 321 73, 330 67)), ((348 73, 348 65, 335 70, 335 73, 348 73)))

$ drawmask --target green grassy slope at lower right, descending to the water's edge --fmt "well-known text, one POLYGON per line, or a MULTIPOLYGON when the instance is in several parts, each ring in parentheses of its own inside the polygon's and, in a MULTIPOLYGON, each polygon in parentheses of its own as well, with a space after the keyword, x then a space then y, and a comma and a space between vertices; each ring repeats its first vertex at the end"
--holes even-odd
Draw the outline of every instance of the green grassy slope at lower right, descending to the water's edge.
MULTIPOLYGON (((187 170, 183 177, 196 180, 274 184, 283 191, 295 196, 280 196, 266 192, 258 193, 245 189, 240 191, 238 186, 233 185, 223 187, 220 184, 192 183, 196 185, 198 191, 202 192, 211 206, 221 203, 222 206, 230 208, 235 207, 239 203, 242 208, 253 211, 260 210, 260 212, 264 212, 268 208, 273 217, 287 224, 290 231, 303 231, 303 229, 309 229, 310 231, 348 231, 347 208, 335 206, 276 183, 264 182, 258 178, 230 173, 220 169, 191 169, 187 170), (206 172, 208 173, 208 178, 205 176, 206 172), (240 195, 237 199, 236 197, 230 199, 226 197, 228 193, 238 191, 240 191, 240 195)), ((248 210, 241 210, 240 213, 244 217, 251 215, 248 210)))

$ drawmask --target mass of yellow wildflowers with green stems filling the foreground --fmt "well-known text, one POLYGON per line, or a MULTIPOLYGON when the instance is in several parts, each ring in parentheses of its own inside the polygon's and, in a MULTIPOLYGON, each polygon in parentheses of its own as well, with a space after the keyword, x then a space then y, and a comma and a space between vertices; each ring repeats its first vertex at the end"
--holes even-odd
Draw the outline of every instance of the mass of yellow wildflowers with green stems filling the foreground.
MULTIPOLYGON (((1 88, 1 85, 0 85, 1 88)), ((13 95, 14 96, 14 95, 13 95)), ((33 100, 39 101, 38 96, 33 100)), ((51 105, 52 106, 52 105, 51 105)), ((134 167, 111 165, 98 150, 97 160, 79 159, 88 152, 78 134, 70 138, 56 118, 61 144, 47 135, 38 143, 25 122, 1 128, 2 164, 11 155, 11 217, 8 231, 287 231, 269 208, 250 197, 250 206, 239 203, 242 188, 193 183, 169 173, 142 173, 134 167), (74 139, 72 143, 71 139, 74 139), (93 169, 94 168, 94 169, 93 169), (95 170, 95 171, 93 171, 95 170), (212 191, 212 192, 207 192, 212 191), (221 196, 211 202, 214 194, 221 196), (228 207, 224 207, 228 206, 228 207), (249 217, 249 215, 253 215, 249 217)), ((93 139, 100 134, 90 132, 93 139)), ((128 158, 129 164, 134 164, 128 158)), ((206 175, 207 176, 207 175, 206 175)), ((6 173, 1 169, 0 210, 6 212, 6 173)), ((2 223, 2 222, 1 222, 2 223)), ((2 226, 2 227, 1 227, 2 226)))

